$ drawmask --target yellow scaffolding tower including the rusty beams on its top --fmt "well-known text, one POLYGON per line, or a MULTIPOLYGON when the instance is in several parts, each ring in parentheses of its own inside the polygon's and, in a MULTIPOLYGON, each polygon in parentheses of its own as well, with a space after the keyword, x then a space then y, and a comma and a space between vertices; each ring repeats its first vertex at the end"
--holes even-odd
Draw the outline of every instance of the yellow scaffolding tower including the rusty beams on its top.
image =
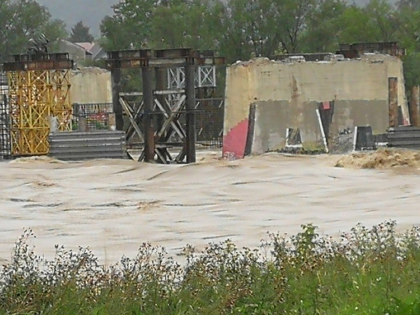
POLYGON ((71 129, 70 70, 68 53, 14 55, 3 64, 9 83, 11 155, 49 152, 50 116, 59 131, 71 129))

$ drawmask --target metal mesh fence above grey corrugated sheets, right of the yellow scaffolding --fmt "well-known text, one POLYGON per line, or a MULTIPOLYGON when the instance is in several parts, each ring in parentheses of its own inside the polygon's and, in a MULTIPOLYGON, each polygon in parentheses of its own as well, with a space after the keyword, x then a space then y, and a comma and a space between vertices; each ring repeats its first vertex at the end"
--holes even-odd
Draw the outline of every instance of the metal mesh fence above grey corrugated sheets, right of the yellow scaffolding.
POLYGON ((107 130, 112 104, 73 104, 72 130, 78 130, 80 118, 86 119, 86 131, 107 130))

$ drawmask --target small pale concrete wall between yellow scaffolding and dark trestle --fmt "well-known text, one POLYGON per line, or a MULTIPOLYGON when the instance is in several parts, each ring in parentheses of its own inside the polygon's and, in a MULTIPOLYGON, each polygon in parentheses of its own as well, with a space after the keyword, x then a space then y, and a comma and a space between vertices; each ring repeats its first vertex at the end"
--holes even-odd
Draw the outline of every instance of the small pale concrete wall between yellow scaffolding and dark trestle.
POLYGON ((77 104, 112 103, 111 72, 101 68, 71 71, 71 102, 77 104))

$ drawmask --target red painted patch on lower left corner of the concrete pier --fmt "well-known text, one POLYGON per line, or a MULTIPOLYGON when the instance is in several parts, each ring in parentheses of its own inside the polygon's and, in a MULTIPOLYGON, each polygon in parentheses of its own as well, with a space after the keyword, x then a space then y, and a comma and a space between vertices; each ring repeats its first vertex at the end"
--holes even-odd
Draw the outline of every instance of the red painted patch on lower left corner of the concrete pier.
POLYGON ((241 121, 223 138, 223 156, 241 159, 245 155, 249 119, 241 121))

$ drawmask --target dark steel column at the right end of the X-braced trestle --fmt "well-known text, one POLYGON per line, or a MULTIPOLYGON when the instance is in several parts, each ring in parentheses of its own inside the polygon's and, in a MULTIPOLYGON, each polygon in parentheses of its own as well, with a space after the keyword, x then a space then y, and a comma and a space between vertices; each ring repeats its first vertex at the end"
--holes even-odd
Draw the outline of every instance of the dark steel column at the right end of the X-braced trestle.
POLYGON ((195 66, 194 58, 186 58, 185 67, 185 94, 186 94, 186 151, 187 163, 194 163, 195 156, 195 66))

